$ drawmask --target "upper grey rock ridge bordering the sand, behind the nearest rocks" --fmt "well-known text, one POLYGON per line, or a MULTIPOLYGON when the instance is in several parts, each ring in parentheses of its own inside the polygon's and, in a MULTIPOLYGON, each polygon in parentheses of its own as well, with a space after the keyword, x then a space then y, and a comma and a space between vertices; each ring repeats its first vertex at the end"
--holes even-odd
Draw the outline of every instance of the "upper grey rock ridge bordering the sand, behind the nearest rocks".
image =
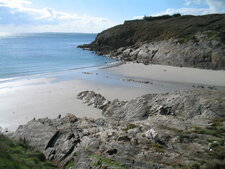
POLYGON ((78 98, 85 100, 88 105, 104 107, 103 115, 112 121, 131 122, 155 115, 170 115, 183 120, 223 117, 224 96, 223 91, 194 89, 166 94, 147 94, 130 101, 116 99, 110 102, 93 91, 81 92, 78 98))

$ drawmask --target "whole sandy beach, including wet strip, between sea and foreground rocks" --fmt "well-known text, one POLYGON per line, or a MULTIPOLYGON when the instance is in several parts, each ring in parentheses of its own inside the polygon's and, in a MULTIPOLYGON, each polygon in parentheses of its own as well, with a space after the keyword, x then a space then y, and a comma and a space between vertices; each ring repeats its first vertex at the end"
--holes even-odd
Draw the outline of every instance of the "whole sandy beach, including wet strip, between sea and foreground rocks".
POLYGON ((77 99, 77 94, 85 90, 93 90, 109 100, 128 100, 147 93, 193 88, 193 84, 223 90, 225 71, 127 63, 12 80, 0 84, 0 126, 15 130, 33 118, 55 118, 67 113, 102 117, 100 110, 77 99), (150 83, 141 83, 146 80, 150 83))

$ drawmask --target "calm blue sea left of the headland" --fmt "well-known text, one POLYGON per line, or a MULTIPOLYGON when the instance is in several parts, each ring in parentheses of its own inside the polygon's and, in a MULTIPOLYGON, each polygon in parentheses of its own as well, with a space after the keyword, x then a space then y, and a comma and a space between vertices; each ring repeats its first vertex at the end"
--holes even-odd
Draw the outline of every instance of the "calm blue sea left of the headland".
POLYGON ((0 80, 92 67, 114 60, 76 48, 96 34, 37 33, 0 37, 0 80))

